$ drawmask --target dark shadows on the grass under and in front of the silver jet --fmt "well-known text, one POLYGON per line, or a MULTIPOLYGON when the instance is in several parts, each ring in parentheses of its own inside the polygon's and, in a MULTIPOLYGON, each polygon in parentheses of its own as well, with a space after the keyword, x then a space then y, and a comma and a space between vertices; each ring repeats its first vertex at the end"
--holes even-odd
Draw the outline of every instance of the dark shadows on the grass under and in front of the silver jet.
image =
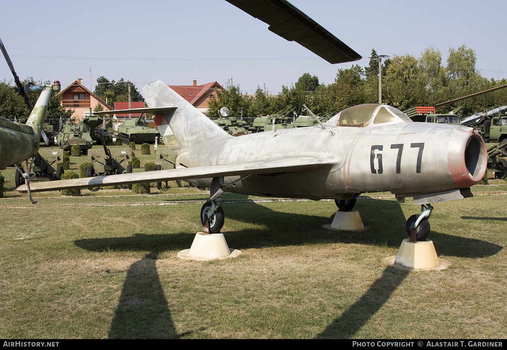
MULTIPOLYGON (((374 206, 370 206, 371 203, 364 204, 361 205, 359 202, 358 209, 367 225, 374 226, 378 217, 382 216, 385 211, 391 215, 390 226, 394 221, 400 222, 400 224, 405 222, 400 205, 392 201, 376 200, 374 206)), ((245 249, 317 241, 374 245, 385 243, 391 247, 398 247, 401 240, 406 237, 405 232, 401 230, 396 231, 395 234, 390 233, 387 231, 390 228, 386 228, 386 231, 382 231, 381 228, 380 232, 377 227, 371 227, 361 232, 338 232, 322 229, 321 226, 329 224, 333 218, 335 207, 330 205, 330 208, 332 208, 332 214, 322 217, 275 212, 266 206, 254 203, 227 204, 228 218, 259 224, 262 225, 262 229, 229 232, 226 233, 226 238, 230 246, 245 249), (251 215, 252 212, 256 213, 255 218, 251 215)), ((492 256, 502 249, 497 244, 478 239, 462 238, 434 231, 430 235, 430 238, 436 242, 438 252, 445 256, 482 258, 492 256)), ((141 260, 132 264, 127 271, 120 301, 111 324, 110 338, 179 338, 204 330, 201 328, 177 334, 156 268, 159 253, 166 250, 186 249, 192 244, 193 237, 193 233, 167 235, 134 233, 130 237, 75 241, 77 246, 91 251, 107 251, 109 249, 149 251, 141 260)), ((350 338, 353 336, 389 300, 391 294, 409 273, 408 269, 387 267, 368 291, 322 333, 318 334, 317 338, 350 338)))

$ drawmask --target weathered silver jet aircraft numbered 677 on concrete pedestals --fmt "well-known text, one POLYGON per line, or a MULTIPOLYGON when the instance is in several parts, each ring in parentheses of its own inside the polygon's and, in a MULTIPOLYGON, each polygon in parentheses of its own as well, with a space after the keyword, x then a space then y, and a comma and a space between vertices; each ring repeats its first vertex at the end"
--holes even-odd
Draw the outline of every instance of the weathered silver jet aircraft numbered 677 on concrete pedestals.
POLYGON ((31 191, 194 179, 211 188, 201 220, 209 217, 212 233, 224 224, 224 191, 350 203, 361 193, 389 191, 423 206, 407 222, 420 240, 429 233, 431 203, 471 197, 469 187, 486 171, 484 140, 472 128, 413 122, 387 105, 350 107, 317 126, 234 137, 162 81, 146 85, 143 96, 149 108, 135 111, 155 115, 176 169, 32 183, 31 191))

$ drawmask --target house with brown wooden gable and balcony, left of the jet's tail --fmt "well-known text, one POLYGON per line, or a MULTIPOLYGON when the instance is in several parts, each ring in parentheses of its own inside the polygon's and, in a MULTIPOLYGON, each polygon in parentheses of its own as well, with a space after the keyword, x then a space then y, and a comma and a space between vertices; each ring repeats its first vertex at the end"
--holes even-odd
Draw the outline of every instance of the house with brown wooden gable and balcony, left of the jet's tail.
POLYGON ((83 79, 74 80, 69 86, 58 92, 56 97, 61 97, 61 104, 65 110, 73 109, 72 118, 79 120, 83 120, 85 115, 89 115, 90 108, 93 112, 97 105, 101 105, 104 111, 113 110, 113 107, 83 85, 83 79))

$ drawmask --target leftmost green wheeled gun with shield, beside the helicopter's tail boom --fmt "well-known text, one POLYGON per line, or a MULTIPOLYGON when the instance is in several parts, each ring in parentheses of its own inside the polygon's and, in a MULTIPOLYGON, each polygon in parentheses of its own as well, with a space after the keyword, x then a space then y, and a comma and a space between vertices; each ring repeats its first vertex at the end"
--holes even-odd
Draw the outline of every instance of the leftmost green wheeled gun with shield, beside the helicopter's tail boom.
MULTIPOLYGON (((58 165, 63 161, 62 149, 39 149, 33 160, 30 171, 30 180, 60 180, 64 173, 63 167, 58 165)), ((16 187, 25 183, 23 174, 16 169, 14 175, 16 187)))

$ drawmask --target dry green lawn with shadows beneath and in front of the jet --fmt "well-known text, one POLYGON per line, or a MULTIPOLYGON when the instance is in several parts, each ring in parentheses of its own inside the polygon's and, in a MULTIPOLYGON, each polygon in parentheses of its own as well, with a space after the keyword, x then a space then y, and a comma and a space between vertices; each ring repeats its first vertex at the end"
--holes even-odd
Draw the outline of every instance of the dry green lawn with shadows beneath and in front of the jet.
POLYGON ((361 232, 321 227, 332 201, 224 204, 224 235, 242 255, 211 262, 176 255, 202 229, 200 203, 80 205, 153 198, 0 209, 0 337, 507 336, 505 196, 434 206, 428 238, 450 263, 441 271, 385 260, 419 212, 409 199, 357 201, 361 232))

